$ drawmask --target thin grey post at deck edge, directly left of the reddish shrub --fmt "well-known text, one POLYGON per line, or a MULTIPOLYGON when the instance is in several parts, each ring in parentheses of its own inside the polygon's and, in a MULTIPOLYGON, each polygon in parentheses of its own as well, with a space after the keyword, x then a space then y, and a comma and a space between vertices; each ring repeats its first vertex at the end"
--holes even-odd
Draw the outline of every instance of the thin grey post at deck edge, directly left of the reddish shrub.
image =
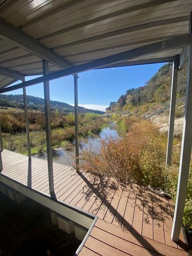
POLYGON ((76 164, 76 172, 79 171, 79 118, 78 118, 78 76, 74 75, 74 102, 75 102, 75 164, 76 164))

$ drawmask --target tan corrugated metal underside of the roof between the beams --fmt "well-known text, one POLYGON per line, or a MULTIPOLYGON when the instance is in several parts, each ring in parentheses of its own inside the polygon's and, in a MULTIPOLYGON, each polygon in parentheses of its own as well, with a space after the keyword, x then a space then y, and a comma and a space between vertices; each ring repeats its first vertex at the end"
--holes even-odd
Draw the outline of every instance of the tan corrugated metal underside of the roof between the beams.
MULTIPOLYGON (((6 1, 0 15, 77 65, 188 33, 191 0, 164 1, 6 1)), ((151 54, 141 59, 179 52, 151 54)), ((22 47, 0 40, 0 53, 0 66, 22 74, 42 74, 42 60, 22 47)), ((55 70, 59 68, 51 64, 50 71, 55 70)))

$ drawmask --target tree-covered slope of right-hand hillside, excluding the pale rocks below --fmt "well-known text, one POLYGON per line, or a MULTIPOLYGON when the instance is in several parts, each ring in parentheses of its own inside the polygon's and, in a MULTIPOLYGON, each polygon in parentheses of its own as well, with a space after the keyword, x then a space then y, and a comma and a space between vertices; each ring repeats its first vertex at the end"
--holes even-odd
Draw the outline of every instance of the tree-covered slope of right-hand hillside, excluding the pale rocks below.
MULTIPOLYGON (((186 73, 187 67, 185 66, 178 74, 178 99, 182 98, 186 92, 186 73)), ((117 102, 111 102, 106 112, 126 112, 127 115, 137 117, 148 116, 169 104, 171 80, 172 63, 167 63, 144 86, 129 89, 119 97, 117 102)))

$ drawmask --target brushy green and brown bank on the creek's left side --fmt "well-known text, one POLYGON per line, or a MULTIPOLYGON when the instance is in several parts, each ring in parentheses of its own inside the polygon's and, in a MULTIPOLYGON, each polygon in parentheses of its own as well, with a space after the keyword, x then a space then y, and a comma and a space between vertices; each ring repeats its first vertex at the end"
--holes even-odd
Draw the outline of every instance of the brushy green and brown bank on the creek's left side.
MULTIPOLYGON (((24 113, 7 113, 2 118, 2 138, 4 148, 28 154, 26 132, 22 131, 24 113), (17 115, 17 116, 15 116, 17 115), (3 119, 4 118, 4 119, 3 119), (17 118, 14 120, 14 118, 17 118), (17 124, 16 124, 17 122, 17 124), (7 132, 10 129, 10 132, 7 132), (15 132, 16 131, 16 132, 15 132), (20 132, 18 132, 20 131, 20 132)), ((107 124, 107 119, 99 114, 84 114, 79 116, 80 137, 99 133, 107 124)), ((32 155, 46 152, 46 132, 44 113, 32 112, 29 115, 30 147, 32 155)), ((52 149, 66 148, 73 143, 75 138, 74 114, 62 115, 52 113, 52 149)))

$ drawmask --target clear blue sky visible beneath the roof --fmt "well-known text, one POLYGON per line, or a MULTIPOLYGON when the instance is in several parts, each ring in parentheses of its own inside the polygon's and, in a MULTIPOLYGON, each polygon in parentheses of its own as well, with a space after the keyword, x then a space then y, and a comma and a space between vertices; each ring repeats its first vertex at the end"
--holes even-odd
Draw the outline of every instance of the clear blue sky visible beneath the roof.
MULTIPOLYGON (((117 101, 119 96, 124 94, 129 88, 143 86, 163 65, 164 63, 158 63, 104 68, 80 73, 78 74, 79 105, 104 110, 111 101, 117 101)), ((28 76, 26 80, 35 77, 37 76, 28 76)), ((73 81, 73 76, 50 81, 50 99, 74 104, 73 81)), ((26 88, 26 92, 28 95, 44 98, 42 84, 29 86, 26 88)), ((6 94, 22 94, 22 89, 6 94)))

